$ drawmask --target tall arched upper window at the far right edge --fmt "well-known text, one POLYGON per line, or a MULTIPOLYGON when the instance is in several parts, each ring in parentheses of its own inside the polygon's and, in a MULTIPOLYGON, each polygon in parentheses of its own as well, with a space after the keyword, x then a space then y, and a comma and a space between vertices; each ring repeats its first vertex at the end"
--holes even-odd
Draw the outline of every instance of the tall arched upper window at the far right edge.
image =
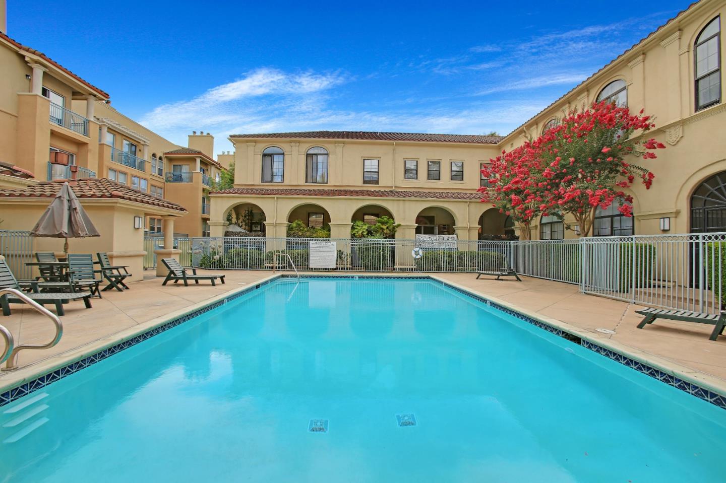
POLYGON ((721 20, 701 30, 693 46, 696 61, 696 110, 721 102, 721 20))

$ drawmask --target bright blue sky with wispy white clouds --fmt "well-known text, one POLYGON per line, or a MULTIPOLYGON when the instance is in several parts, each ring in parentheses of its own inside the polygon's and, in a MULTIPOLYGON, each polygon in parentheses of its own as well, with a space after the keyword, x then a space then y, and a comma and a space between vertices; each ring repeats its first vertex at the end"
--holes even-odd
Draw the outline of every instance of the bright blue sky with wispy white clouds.
POLYGON ((505 134, 687 6, 8 0, 8 33, 162 136, 209 131, 220 152, 230 133, 505 134))

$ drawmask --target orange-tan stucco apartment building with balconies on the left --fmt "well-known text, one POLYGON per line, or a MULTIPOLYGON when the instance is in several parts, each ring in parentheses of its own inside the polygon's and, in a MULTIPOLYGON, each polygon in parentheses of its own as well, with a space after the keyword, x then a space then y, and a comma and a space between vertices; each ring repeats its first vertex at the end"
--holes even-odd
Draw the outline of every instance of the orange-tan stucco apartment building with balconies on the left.
MULTIPOLYGON (((115 110, 102 89, 1 31, 0 65, 0 162, 25 173, 0 176, 0 186, 107 178, 186 207, 176 234, 208 233, 206 192, 225 169, 214 160, 211 134, 192 133, 178 146, 115 110)), ((1 218, 2 228, 13 228, 1 218)), ((162 219, 145 218, 147 233, 160 235, 162 219)))

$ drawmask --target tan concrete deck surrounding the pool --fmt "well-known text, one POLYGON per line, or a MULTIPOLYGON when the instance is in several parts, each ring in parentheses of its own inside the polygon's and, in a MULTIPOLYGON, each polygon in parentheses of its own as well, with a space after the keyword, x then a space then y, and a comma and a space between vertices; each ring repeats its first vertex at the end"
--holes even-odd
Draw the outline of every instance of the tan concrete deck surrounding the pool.
MULTIPOLYGON (((221 273, 199 271, 199 273, 221 273)), ((63 337, 49 350, 23 350, 18 355, 20 369, 0 373, 0 388, 14 387, 41 373, 52 371, 64 363, 89 355, 108 344, 131 337, 135 332, 160 325, 167 318, 224 298, 229 292, 254 286, 274 276, 270 271, 225 271, 227 284, 211 286, 208 281, 185 287, 183 284, 162 286, 163 278, 152 276, 129 284, 126 292, 103 292, 103 299, 94 298, 93 308, 86 310, 82 302, 67 305, 61 318, 63 337)), ((314 273, 306 273, 314 275, 314 273)), ((322 273, 318 273, 322 274, 322 273)), ((335 273, 356 275, 356 273, 335 273)), ((360 273, 359 275, 375 275, 360 273)), ((381 274, 381 275, 389 275, 381 274)), ((396 274, 398 275, 398 274, 396 274)), ((411 273, 409 275, 421 275, 411 273)), ((563 329, 597 339, 613 350, 637 355, 653 365, 674 369, 700 381, 706 387, 726 394, 726 336, 710 341, 712 326, 658 320, 645 329, 637 329, 639 305, 582 294, 579 287, 539 278, 522 277, 495 281, 471 273, 431 273, 441 281, 460 286, 494 302, 563 329), (603 334, 596 329, 610 329, 616 334, 603 334)), ((406 276, 406 274, 401 274, 406 276)), ((15 344, 42 344, 53 337, 54 328, 48 319, 23 305, 12 305, 12 315, 0 317, 0 324, 15 337, 15 344)), ((1 391, 0 391, 1 392, 1 391)))

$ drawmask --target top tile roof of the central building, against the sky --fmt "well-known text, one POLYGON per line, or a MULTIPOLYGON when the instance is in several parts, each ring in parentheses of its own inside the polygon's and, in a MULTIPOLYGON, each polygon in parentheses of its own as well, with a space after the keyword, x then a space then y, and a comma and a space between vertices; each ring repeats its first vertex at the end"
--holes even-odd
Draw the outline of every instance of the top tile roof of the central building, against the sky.
POLYGON ((364 139, 370 141, 424 141, 434 143, 497 144, 503 136, 468 134, 378 133, 373 131, 296 131, 292 133, 232 134, 240 139, 364 139))

